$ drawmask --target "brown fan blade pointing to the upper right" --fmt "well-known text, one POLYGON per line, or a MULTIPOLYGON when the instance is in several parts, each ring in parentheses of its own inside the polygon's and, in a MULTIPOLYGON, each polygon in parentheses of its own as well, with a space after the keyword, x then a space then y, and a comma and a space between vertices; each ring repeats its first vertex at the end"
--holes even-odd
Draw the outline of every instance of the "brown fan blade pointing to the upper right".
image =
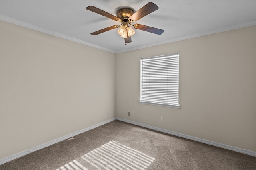
POLYGON ((154 12, 155 10, 158 10, 158 6, 152 2, 148 2, 145 6, 140 8, 138 11, 136 11, 132 16, 130 16, 129 20, 137 21, 140 18, 150 14, 151 12, 154 12))

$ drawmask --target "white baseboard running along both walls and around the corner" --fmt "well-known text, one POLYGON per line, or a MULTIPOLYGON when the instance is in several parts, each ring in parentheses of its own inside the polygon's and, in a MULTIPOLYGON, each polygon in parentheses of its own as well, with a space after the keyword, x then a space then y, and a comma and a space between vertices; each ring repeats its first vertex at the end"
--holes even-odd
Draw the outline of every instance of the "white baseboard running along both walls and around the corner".
POLYGON ((145 125, 145 124, 142 124, 142 123, 138 123, 138 122, 135 122, 135 121, 130 121, 130 120, 126 120, 126 119, 121 119, 121 118, 112 118, 112 119, 109 119, 107 121, 104 121, 102 123, 98 123, 97 125, 93 125, 91 127, 88 127, 88 128, 85 128, 85 129, 82 129, 80 131, 76 131, 74 133, 71 133, 69 135, 66 135, 64 137, 60 137, 58 139, 55 139, 53 141, 50 141, 50 142, 47 142, 47 143, 44 143, 42 145, 39 145, 37 147, 34 147, 32 149, 28 149, 28 150, 24 150, 20 153, 17 153, 17 154, 14 154, 12 156, 8 156, 6 158, 3 158, 0 160, 0 165, 1 164, 4 164, 6 162, 9 162, 11 160, 14 160, 14 159, 17 159, 17 158, 20 158, 21 156, 24 156, 26 154, 29 154, 31 152, 34 152, 36 150, 39 150, 39 149, 43 149, 45 147, 48 147, 50 145, 53 145, 55 143, 58 143, 60 141, 64 141, 70 137, 74 137, 76 135, 79 135, 80 133, 84 133, 86 131, 89 131, 91 129, 94 129, 96 127, 99 127, 101 125, 104 125, 106 123, 109 123, 111 121, 114 121, 114 120, 119 120, 119 121, 123 121, 123 122, 126 122, 126 123, 131 123, 131 124, 134 124, 134 125, 138 125, 138 126, 141 126, 141 127, 146 127, 148 129, 152 129, 152 130, 155 130, 155 131, 160 131, 160 132, 163 132, 163 133, 167 133, 167 134, 170 134, 170 135, 175 135, 175 136, 178 136, 178 137, 183 137, 183 138, 186 138, 186 139, 191 139, 193 141, 198 141, 198 142, 202 142, 202 143, 206 143, 206 144, 209 144, 209 145, 213 145, 213 146, 216 146, 216 147, 220 147, 220 148, 224 148, 224 149, 228 149, 228 150, 233 150, 235 152, 240 152, 240 153, 243 153, 243 154, 247 154, 247 155, 250 155, 250 156, 254 156, 256 157, 256 152, 253 152, 253 151, 250 151, 250 150, 246 150, 246 149, 241 149, 241 148, 237 148, 237 147, 232 147, 232 146, 229 146, 229 145, 224 145, 222 143, 217 143, 217 142, 213 142, 213 141, 208 141, 208 140, 205 140, 205 139, 200 139, 200 138, 197 138, 197 137, 193 137, 193 136, 189 136, 189 135, 184 135, 182 133, 177 133, 177 132, 173 132, 173 131, 168 131, 166 129, 161 129, 161 128, 158 128, 158 127, 154 127, 154 126, 150 126, 150 125, 145 125))

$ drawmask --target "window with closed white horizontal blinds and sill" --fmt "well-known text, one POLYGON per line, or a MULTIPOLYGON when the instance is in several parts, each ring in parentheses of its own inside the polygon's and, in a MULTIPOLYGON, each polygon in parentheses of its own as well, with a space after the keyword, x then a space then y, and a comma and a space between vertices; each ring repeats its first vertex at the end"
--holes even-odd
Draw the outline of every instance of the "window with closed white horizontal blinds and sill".
POLYGON ((179 53, 140 59, 140 103, 180 108, 179 53))

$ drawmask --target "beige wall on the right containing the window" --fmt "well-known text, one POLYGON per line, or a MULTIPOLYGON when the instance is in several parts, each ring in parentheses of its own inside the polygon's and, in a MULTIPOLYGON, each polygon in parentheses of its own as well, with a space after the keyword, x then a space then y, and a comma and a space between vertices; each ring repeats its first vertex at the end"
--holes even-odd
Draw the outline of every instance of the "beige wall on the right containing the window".
POLYGON ((116 116, 256 151, 255 41, 252 26, 117 54, 116 116), (181 109, 139 104, 140 57, 174 52, 181 109))

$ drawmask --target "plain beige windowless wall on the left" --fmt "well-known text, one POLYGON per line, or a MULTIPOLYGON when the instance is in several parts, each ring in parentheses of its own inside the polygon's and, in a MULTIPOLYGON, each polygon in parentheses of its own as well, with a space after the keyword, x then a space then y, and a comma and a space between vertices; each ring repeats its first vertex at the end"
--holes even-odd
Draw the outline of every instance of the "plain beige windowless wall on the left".
POLYGON ((1 159, 114 118, 115 62, 1 21, 1 159))

